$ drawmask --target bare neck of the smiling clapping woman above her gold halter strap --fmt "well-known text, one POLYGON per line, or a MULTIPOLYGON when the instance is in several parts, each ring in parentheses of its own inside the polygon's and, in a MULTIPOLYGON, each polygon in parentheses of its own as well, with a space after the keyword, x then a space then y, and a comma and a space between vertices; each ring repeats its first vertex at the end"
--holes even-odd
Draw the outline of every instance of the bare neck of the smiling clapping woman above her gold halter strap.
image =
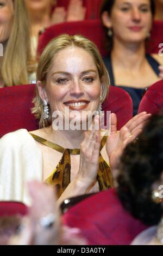
POLYGON ((46 128, 46 139, 64 148, 80 148, 84 139, 83 130, 53 130, 52 126, 46 128))

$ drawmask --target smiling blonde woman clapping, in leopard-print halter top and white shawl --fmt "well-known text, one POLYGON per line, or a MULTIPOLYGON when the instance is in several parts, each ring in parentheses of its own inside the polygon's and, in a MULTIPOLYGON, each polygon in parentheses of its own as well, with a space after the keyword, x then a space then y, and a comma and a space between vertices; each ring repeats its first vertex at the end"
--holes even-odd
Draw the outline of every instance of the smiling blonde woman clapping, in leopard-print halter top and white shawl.
POLYGON ((30 133, 21 129, 0 140, 3 199, 29 204, 24 183, 33 179, 55 186, 58 204, 74 195, 113 186, 113 170, 124 146, 137 137, 151 115, 142 112, 117 132, 116 115, 111 114, 110 136, 101 136, 98 129, 88 130, 89 122, 99 122, 98 115, 94 121, 92 116, 101 112, 108 92, 108 72, 89 39, 60 35, 47 45, 37 69, 33 109, 40 129, 30 133), (55 114, 62 120, 57 129, 55 114), (72 128, 72 122, 78 127, 72 128), (87 124, 85 129, 83 124, 87 124))

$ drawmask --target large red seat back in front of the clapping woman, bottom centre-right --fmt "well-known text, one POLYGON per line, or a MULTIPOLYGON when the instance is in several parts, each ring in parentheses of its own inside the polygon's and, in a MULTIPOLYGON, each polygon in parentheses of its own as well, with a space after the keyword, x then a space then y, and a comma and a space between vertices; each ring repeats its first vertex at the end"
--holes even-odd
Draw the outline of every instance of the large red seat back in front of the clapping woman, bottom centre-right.
POLYGON ((77 227, 89 245, 129 245, 146 229, 123 209, 114 189, 105 190, 73 206, 62 217, 70 227, 77 227))

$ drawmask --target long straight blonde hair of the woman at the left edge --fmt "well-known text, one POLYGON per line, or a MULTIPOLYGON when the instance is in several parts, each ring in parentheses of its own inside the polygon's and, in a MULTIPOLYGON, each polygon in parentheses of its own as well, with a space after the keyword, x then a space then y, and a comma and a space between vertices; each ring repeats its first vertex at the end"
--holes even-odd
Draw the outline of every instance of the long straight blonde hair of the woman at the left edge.
POLYGON ((24 0, 14 0, 14 20, 2 60, 1 77, 5 87, 28 84, 30 58, 29 19, 24 0))

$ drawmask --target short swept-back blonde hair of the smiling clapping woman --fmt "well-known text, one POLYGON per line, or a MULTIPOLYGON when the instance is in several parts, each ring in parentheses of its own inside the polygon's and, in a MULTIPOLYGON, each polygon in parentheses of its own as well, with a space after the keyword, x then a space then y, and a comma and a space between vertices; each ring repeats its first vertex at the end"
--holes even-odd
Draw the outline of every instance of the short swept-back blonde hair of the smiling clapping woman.
MULTIPOLYGON (((102 94, 102 101, 108 96, 109 92, 109 74, 105 68, 103 59, 97 49, 97 46, 92 43, 89 39, 83 37, 82 35, 68 35, 63 34, 59 35, 59 37, 54 38, 50 43, 46 46, 45 50, 42 52, 42 55, 39 60, 39 64, 37 67, 37 81, 41 81, 42 86, 46 86, 46 79, 49 70, 52 67, 55 55, 70 46, 76 46, 84 49, 95 61, 99 79, 103 84, 103 94, 102 94)), ((39 95, 39 92, 36 88, 36 97, 33 100, 35 107, 32 109, 32 113, 35 115, 37 119, 40 120, 40 128, 46 127, 51 125, 52 123, 52 115, 51 111, 49 113, 49 118, 44 120, 43 119, 43 104, 42 99, 39 95)))

